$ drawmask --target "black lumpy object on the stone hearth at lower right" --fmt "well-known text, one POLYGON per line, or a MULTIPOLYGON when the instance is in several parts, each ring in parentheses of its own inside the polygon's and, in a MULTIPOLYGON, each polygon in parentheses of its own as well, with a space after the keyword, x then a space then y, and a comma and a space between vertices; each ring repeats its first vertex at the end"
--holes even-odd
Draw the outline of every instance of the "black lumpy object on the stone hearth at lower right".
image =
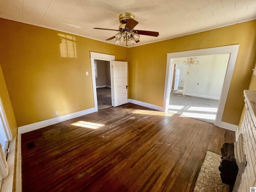
POLYGON ((222 161, 219 166, 220 177, 223 183, 229 185, 229 191, 232 192, 238 173, 234 155, 234 143, 224 143, 220 151, 222 154, 222 161))

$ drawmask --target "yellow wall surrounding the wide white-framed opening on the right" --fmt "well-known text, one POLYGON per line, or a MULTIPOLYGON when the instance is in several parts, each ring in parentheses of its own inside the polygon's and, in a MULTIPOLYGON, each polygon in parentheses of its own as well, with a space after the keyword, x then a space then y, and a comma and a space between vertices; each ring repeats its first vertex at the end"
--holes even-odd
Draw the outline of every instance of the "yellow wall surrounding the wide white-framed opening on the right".
POLYGON ((163 106, 167 53, 241 44, 222 117, 222 121, 238 125, 244 106, 243 90, 249 87, 256 60, 255 41, 253 20, 130 48, 130 98, 163 106))

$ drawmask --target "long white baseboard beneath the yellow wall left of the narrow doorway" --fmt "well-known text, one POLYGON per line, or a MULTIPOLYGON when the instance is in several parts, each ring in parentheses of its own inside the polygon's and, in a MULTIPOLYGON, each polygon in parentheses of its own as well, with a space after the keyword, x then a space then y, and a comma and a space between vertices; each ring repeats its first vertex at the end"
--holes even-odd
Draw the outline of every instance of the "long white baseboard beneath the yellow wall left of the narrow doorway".
POLYGON ((82 111, 78 111, 78 112, 74 112, 71 114, 66 114, 66 115, 62 115, 59 117, 55 117, 52 119, 47 119, 44 121, 40 121, 40 122, 36 122, 36 123, 32 123, 32 124, 28 124, 28 125, 24 125, 24 126, 20 126, 18 127, 18 134, 23 134, 26 132, 30 132, 30 131, 34 131, 43 127, 47 127, 56 123, 60 123, 66 120, 70 120, 76 117, 80 117, 83 115, 87 115, 90 113, 96 112, 95 108, 90 108, 90 109, 86 109, 86 110, 82 110, 82 111))

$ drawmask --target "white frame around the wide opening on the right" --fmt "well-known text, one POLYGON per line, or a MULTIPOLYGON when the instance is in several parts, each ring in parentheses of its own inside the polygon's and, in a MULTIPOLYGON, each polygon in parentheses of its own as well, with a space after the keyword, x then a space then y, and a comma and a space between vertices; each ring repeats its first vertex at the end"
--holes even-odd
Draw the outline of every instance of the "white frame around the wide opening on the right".
POLYGON ((166 76, 165 76, 165 84, 164 84, 164 111, 168 111, 169 100, 170 100, 170 88, 172 85, 172 76, 173 76, 173 59, 181 58, 181 57, 192 57, 192 56, 208 56, 208 55, 217 55, 217 54, 230 54, 230 58, 228 61, 228 67, 226 70, 226 75, 222 87, 222 92, 220 95, 219 107, 216 115, 216 120, 214 125, 223 127, 225 122, 222 122, 222 116, 228 96, 228 90, 230 87, 230 82, 232 79, 232 74, 234 71, 234 66, 236 63, 236 57, 238 54, 240 44, 238 45, 230 45, 230 46, 221 46, 214 48, 206 48, 206 49, 198 49, 192 51, 183 51, 183 52, 174 52, 167 53, 167 62, 166 62, 166 76))

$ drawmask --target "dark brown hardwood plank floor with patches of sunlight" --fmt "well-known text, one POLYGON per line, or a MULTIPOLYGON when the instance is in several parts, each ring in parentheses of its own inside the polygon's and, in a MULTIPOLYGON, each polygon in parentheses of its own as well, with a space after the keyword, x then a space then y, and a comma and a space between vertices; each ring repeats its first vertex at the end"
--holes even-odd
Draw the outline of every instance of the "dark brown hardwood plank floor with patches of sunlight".
POLYGON ((220 154, 235 135, 125 104, 21 138, 23 192, 184 192, 193 191, 206 150, 220 154))

